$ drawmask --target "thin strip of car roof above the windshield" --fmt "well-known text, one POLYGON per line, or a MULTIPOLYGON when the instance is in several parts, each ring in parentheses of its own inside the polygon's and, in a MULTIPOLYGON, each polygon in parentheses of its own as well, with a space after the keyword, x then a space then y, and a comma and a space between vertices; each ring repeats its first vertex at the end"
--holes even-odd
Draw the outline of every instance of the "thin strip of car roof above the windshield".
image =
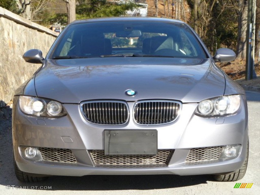
POLYGON ((183 23, 180 20, 173 20, 167 18, 155 18, 155 17, 107 17, 107 18, 92 18, 86 20, 75 20, 70 24, 85 23, 85 22, 110 22, 110 21, 153 21, 153 22, 176 22, 183 23))

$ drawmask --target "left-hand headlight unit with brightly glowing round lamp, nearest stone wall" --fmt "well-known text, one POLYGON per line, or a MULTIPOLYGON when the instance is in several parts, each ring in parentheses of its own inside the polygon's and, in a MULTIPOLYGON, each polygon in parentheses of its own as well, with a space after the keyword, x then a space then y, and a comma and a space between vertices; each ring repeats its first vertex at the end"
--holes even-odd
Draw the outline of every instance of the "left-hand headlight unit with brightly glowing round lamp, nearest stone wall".
POLYGON ((60 102, 39 97, 19 96, 19 107, 25 114, 59 117, 66 115, 60 102))

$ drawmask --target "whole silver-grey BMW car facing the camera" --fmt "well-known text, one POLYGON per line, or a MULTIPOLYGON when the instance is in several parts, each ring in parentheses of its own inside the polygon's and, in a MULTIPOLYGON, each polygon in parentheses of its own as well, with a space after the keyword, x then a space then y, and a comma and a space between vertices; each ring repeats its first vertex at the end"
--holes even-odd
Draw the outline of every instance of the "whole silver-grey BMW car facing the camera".
POLYGON ((14 166, 20 181, 51 175, 212 174, 243 178, 244 90, 187 24, 162 18, 75 21, 14 95, 14 166))

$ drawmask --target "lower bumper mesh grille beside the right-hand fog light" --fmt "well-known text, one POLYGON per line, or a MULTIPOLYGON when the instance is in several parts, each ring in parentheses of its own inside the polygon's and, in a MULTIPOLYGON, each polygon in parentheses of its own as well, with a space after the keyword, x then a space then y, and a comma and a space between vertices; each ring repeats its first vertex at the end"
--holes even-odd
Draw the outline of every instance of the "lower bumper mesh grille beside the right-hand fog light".
POLYGON ((199 162, 217 160, 222 151, 222 146, 207 148, 192 148, 186 157, 185 162, 199 162))

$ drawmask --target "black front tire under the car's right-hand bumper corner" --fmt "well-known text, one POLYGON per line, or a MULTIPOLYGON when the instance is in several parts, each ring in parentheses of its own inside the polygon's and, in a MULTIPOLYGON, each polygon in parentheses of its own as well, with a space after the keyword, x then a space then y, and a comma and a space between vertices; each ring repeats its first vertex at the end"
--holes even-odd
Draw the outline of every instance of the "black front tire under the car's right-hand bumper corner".
POLYGON ((246 157, 243 166, 240 169, 237 169, 231 173, 224 175, 214 175, 216 181, 237 181, 244 177, 247 164, 248 164, 248 153, 249 153, 249 140, 247 141, 246 157))

